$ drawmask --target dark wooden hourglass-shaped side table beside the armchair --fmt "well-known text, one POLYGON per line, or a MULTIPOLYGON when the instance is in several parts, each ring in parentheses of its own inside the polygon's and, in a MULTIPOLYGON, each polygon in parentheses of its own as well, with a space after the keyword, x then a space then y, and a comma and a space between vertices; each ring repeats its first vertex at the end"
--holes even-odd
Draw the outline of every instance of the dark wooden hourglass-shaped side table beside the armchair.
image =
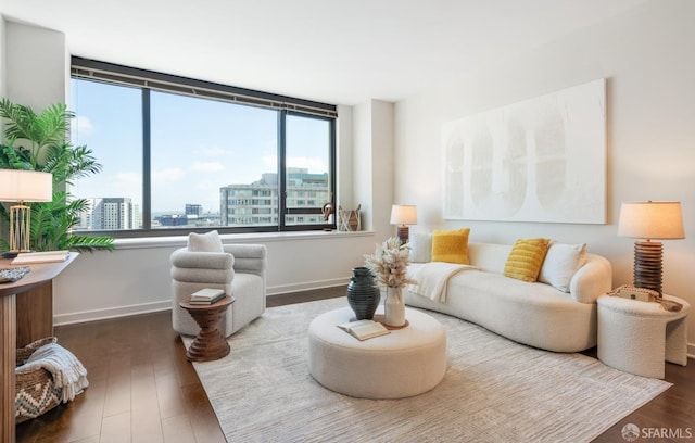
POLYGON ((235 298, 225 295, 222 300, 210 304, 190 304, 188 301, 179 303, 193 317, 200 332, 186 352, 189 362, 211 362, 229 354, 229 343, 219 332, 219 320, 227 313, 227 308, 235 302, 235 298))

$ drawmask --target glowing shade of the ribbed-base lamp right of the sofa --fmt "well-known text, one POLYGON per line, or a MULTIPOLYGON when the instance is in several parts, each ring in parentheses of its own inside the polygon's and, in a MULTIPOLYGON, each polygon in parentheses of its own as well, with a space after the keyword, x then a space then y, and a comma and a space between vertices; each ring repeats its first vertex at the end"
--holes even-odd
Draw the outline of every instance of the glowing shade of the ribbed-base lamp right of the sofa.
POLYGON ((684 239, 681 202, 623 203, 618 236, 654 240, 684 239))

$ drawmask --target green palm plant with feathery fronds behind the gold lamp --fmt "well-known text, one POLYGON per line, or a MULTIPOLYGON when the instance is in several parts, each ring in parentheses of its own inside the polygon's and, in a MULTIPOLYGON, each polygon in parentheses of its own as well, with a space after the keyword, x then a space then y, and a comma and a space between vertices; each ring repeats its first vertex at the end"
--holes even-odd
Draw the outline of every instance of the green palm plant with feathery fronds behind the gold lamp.
MULTIPOLYGON (((70 123, 74 116, 63 103, 50 105, 37 114, 28 106, 0 100, 0 117, 4 119, 0 168, 39 170, 53 176, 53 200, 27 203, 31 207, 30 242, 37 251, 111 251, 114 248, 110 236, 84 236, 72 231, 80 215, 89 210, 89 202, 74 198, 68 186, 102 168, 91 150, 70 142, 70 123)), ((7 224, 9 214, 4 205, 0 205, 0 216, 7 224)), ((5 239, 0 239, 0 249, 9 249, 5 239)))

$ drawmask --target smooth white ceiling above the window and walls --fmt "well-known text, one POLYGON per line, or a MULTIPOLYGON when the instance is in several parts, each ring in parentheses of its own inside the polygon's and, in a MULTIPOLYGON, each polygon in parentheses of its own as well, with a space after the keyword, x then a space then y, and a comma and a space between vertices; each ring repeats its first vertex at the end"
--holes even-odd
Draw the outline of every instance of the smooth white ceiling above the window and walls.
POLYGON ((337 104, 397 101, 645 0, 0 0, 71 54, 337 104))

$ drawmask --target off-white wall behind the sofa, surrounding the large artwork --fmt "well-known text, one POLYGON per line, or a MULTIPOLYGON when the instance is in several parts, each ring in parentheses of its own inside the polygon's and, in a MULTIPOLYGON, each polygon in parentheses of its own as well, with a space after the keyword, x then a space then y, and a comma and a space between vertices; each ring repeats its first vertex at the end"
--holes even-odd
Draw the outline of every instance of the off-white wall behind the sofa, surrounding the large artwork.
MULTIPOLYGON (((443 73, 438 85, 399 102, 395 198, 417 204, 419 224, 412 229, 469 226, 473 241, 544 236, 586 242, 610 260, 617 287, 632 282, 634 241, 616 236, 621 202, 680 200, 687 239, 665 241, 664 288, 695 304, 693 23, 695 2, 654 0, 514 60, 476 66, 475 74, 443 73), (607 225, 442 219, 443 123, 602 77, 608 79, 607 225)), ((688 342, 695 354, 695 315, 688 342)))

